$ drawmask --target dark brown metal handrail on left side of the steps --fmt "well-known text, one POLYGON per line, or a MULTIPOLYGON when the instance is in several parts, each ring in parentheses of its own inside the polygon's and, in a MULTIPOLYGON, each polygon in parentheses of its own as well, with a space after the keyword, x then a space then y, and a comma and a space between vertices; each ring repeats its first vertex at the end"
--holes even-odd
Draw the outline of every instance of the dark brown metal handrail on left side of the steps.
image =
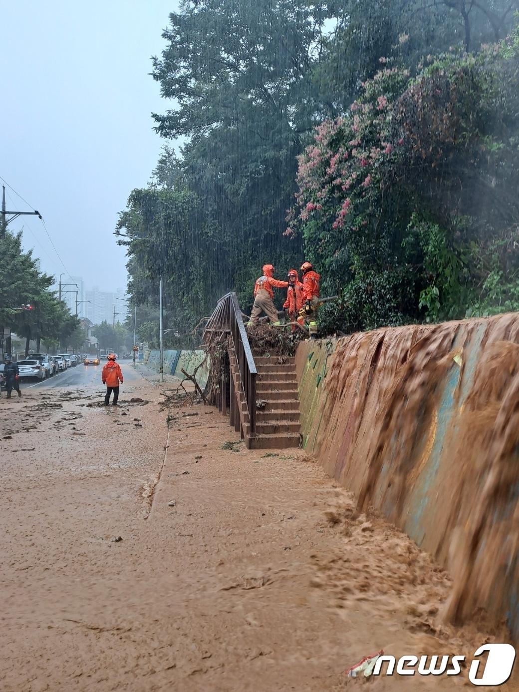
POLYGON ((233 340, 242 392, 248 410, 249 437, 255 437, 257 370, 236 293, 226 293, 218 301, 217 307, 206 325, 208 331, 215 329, 228 331, 233 340))

